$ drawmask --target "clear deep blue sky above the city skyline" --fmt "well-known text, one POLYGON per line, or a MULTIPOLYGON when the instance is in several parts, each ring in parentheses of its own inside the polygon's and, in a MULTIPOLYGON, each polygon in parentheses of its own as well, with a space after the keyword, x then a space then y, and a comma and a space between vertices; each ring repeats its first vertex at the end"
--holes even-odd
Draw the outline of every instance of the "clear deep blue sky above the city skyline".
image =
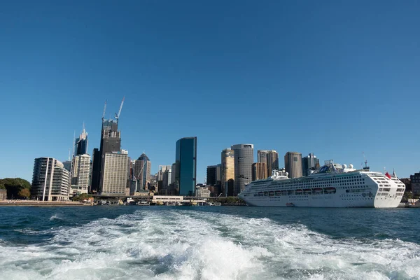
MULTIPOLYGON (((9 1, 0 8, 0 178, 66 160, 107 115, 152 171, 198 137, 197 177, 232 144, 420 170, 419 1, 9 1), (89 3, 85 3, 89 2, 89 3)), ((256 156, 255 156, 256 160, 256 156)))

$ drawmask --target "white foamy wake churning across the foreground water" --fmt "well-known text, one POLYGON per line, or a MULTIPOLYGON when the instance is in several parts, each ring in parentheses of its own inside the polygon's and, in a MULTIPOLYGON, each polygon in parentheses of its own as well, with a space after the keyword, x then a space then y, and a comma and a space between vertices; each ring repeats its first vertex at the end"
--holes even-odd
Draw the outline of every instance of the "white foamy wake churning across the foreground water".
POLYGON ((139 210, 51 232, 42 246, 0 244, 0 279, 420 279, 418 244, 269 218, 139 210))

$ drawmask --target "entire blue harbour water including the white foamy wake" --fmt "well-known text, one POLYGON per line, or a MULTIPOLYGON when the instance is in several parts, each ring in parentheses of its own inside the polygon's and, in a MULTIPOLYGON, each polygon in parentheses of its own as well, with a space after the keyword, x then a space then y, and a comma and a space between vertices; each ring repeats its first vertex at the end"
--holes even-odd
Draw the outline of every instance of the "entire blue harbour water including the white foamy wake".
POLYGON ((420 279, 419 210, 0 207, 0 279, 420 279))

